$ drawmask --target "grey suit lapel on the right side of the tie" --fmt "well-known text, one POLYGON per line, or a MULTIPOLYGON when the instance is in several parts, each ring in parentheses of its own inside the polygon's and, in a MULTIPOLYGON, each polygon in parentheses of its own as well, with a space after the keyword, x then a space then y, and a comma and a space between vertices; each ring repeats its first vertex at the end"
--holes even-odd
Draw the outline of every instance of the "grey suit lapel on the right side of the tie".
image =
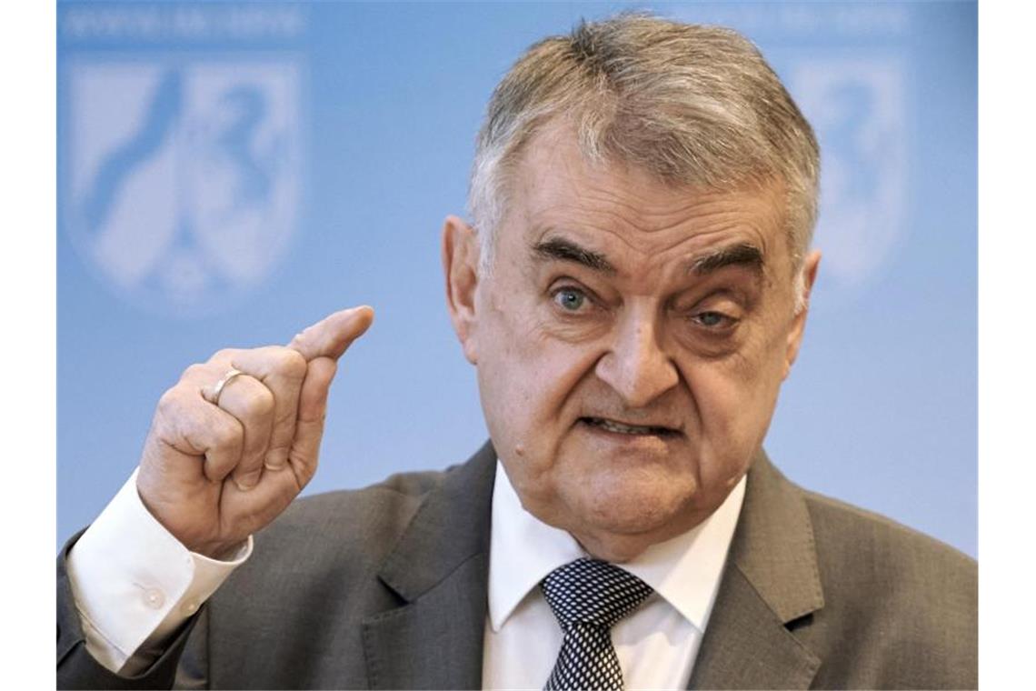
POLYGON ((823 606, 805 500, 760 452, 691 688, 808 688, 821 660, 786 625, 823 606))

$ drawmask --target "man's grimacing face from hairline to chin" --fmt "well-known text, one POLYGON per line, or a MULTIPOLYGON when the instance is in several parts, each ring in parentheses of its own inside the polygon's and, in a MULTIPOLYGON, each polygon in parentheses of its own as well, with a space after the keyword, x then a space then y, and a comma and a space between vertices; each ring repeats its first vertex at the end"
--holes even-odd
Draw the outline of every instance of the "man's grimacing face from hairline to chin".
POLYGON ((802 335, 780 209, 530 144, 461 329, 526 510, 624 560, 722 503, 802 335))

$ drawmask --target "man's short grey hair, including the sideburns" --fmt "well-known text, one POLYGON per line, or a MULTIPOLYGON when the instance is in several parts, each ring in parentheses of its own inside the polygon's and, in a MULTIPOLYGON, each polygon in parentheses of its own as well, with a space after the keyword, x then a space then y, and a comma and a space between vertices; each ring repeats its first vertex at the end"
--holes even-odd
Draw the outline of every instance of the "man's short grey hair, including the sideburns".
POLYGON ((574 129, 588 162, 632 165, 668 184, 718 192, 780 184, 802 301, 799 268, 816 220, 819 150, 748 39, 637 13, 584 21, 529 48, 493 91, 479 133, 468 207, 483 272, 521 153, 555 122, 574 129))

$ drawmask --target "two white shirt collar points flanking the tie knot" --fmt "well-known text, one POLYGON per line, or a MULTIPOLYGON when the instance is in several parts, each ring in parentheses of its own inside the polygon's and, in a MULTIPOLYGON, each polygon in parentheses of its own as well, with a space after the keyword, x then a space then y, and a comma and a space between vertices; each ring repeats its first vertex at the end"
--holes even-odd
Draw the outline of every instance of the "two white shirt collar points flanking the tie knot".
MULTIPOLYGON (((742 478, 704 521, 623 565, 698 631, 704 631, 744 496, 742 478)), ((547 574, 587 556, 571 535, 525 511, 499 460, 490 535, 489 624, 496 632, 547 574)))

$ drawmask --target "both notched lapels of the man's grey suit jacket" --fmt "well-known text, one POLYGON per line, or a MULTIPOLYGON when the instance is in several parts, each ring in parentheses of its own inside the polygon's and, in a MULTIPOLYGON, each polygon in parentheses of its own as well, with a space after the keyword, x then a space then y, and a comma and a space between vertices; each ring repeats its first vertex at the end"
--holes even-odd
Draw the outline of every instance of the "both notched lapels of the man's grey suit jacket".
MULTIPOLYGON (((486 443, 448 472, 385 560, 402 606, 364 623, 371 688, 481 686, 495 467, 486 443)), ((821 661, 786 625, 823 606, 805 499, 759 452, 691 687, 808 688, 821 661)))

